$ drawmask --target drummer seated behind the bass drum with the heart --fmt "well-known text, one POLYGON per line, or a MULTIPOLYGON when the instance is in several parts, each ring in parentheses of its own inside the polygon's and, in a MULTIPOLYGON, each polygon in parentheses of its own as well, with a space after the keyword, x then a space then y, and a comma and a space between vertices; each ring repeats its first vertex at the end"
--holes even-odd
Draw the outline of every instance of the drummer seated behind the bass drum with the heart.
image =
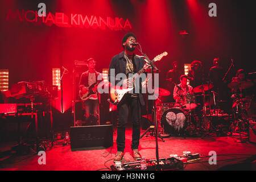
POLYGON ((180 76, 180 84, 175 85, 174 87, 174 99, 175 99, 175 107, 181 107, 187 104, 186 94, 193 94, 193 88, 190 85, 187 85, 188 76, 181 75, 180 76))

